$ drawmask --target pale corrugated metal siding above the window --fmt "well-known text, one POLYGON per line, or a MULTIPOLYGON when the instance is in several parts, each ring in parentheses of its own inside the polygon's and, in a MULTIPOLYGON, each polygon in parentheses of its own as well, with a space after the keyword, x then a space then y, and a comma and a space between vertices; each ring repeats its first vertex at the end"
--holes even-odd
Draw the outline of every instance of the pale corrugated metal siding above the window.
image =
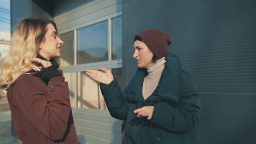
MULTIPOLYGON (((62 7, 64 8, 65 6, 64 4, 62 7)), ((57 9, 62 9, 62 7, 57 9)), ((65 9, 62 10, 65 11, 65 9)), ((53 17, 53 20, 56 22, 60 33, 63 33, 84 27, 86 23, 91 25, 95 23, 95 20, 97 21, 102 17, 116 14, 121 12, 121 10, 121 0, 95 0, 88 4, 80 5, 80 7, 67 11, 66 13, 56 15, 53 17)))

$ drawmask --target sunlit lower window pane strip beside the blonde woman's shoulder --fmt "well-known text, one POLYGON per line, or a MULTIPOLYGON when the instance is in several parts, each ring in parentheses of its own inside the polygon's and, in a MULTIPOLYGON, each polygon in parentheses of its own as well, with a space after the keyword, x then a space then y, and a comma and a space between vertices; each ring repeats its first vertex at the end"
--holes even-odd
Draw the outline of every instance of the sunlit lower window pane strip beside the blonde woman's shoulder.
POLYGON ((69 98, 70 98, 70 104, 72 107, 74 107, 75 104, 75 73, 63 73, 63 76, 65 77, 65 81, 68 82, 69 86, 69 98))

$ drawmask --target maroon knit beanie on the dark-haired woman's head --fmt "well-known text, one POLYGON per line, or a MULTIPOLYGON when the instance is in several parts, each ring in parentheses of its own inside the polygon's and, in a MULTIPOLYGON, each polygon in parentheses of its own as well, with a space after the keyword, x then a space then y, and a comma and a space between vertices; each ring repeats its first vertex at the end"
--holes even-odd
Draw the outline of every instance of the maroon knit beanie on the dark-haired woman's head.
POLYGON ((169 35, 160 29, 146 29, 139 31, 135 34, 134 41, 138 40, 137 37, 144 41, 158 59, 167 55, 168 45, 172 44, 172 40, 169 35))

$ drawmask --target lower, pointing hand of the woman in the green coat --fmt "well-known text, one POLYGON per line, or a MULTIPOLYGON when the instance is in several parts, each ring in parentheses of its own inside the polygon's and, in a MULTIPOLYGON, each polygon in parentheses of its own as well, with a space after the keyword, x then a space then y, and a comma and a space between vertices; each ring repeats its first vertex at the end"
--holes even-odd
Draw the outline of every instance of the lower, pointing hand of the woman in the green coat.
POLYGON ((133 112, 138 113, 137 117, 148 117, 149 120, 153 117, 154 106, 143 106, 133 112))

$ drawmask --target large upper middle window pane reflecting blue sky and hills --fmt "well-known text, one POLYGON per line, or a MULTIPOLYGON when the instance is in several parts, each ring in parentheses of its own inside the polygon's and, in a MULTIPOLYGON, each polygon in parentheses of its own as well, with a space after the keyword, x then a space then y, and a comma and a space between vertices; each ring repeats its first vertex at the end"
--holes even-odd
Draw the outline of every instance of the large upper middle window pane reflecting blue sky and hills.
POLYGON ((77 64, 108 61, 108 21, 77 31, 77 64))

